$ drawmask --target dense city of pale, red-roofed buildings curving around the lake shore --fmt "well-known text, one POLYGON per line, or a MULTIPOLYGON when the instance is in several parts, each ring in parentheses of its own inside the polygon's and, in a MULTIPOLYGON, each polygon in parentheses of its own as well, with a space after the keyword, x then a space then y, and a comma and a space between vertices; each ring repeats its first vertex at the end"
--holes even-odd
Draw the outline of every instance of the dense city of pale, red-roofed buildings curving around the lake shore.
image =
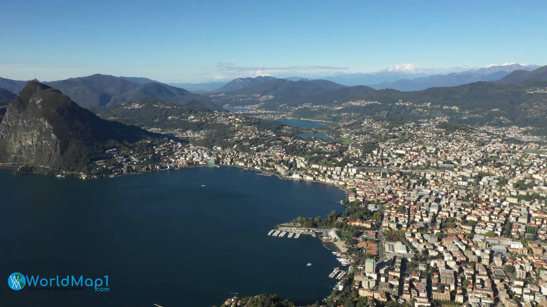
POLYGON ((329 229, 323 239, 342 243, 333 253, 349 265, 316 305, 547 305, 547 148, 527 128, 369 117, 324 131, 336 139, 302 139, 289 126, 242 125, 245 118, 188 116, 236 127, 224 139, 234 145, 203 146, 207 131, 154 129, 189 143, 111 149, 95 161, 100 175, 86 178, 233 166, 344 188, 346 212, 290 223, 329 229))

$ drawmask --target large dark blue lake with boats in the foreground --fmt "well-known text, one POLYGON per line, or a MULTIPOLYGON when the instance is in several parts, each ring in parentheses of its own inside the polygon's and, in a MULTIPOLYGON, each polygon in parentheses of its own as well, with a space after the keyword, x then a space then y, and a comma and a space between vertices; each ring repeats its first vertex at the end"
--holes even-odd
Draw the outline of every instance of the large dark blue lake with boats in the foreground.
POLYGON ((297 216, 344 210, 335 186, 235 167, 91 180, 0 170, 0 186, 0 276, 109 278, 109 292, 4 284, 5 306, 210 307, 229 292, 277 293, 298 305, 337 281, 328 274, 339 262, 317 238, 266 235, 297 216))

